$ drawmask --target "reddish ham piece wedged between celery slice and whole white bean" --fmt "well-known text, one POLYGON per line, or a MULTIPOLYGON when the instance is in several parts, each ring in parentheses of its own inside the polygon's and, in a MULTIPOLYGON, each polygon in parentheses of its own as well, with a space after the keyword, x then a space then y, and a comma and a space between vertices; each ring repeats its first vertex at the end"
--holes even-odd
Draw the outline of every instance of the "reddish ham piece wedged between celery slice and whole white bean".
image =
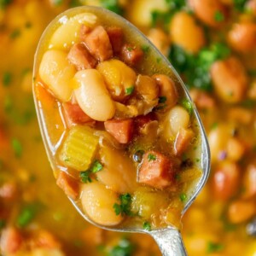
POLYGON ((71 104, 65 102, 62 104, 64 109, 65 119, 69 126, 73 124, 95 123, 84 111, 79 107, 79 104, 71 104))

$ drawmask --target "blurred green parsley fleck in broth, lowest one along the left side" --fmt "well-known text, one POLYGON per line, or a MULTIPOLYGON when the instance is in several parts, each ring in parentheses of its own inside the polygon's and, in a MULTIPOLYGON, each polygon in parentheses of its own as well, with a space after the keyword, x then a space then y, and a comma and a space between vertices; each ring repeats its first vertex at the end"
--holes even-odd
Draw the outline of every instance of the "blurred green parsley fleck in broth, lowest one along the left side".
POLYGON ((32 219, 36 217, 41 209, 42 204, 38 202, 33 202, 22 207, 20 210, 20 214, 17 218, 17 225, 20 228, 25 228, 28 224, 32 222, 32 219))

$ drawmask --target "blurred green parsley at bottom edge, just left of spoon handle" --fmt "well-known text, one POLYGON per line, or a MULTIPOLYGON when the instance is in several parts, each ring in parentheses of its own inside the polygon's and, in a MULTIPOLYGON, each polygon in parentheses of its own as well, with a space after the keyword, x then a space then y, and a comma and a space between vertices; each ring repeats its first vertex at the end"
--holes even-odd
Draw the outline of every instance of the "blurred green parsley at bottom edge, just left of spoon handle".
POLYGON ((108 256, 131 256, 135 251, 135 245, 126 238, 119 241, 119 244, 113 247, 108 256))

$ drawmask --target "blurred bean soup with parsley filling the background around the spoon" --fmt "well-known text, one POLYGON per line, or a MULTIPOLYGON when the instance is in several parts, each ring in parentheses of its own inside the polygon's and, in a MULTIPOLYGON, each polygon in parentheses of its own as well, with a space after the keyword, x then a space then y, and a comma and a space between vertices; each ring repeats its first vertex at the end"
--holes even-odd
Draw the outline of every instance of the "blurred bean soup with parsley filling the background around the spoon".
POLYGON ((138 26, 188 86, 207 130, 212 172, 182 219, 189 255, 256 255, 255 0, 0 0, 0 254, 160 255, 146 235, 87 224, 44 152, 33 56, 55 15, 110 9, 138 26))

